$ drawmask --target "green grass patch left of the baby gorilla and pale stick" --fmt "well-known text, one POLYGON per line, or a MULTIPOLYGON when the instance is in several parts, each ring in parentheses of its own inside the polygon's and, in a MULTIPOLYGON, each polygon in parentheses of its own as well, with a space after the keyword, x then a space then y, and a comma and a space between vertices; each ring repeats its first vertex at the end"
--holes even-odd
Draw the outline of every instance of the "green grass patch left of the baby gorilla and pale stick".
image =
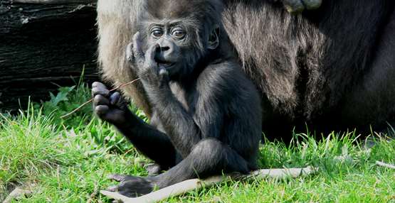
POLYGON ((0 199, 21 185, 34 189, 26 202, 80 202, 99 185, 109 185, 109 172, 146 175, 140 163, 145 159, 96 119, 60 128, 53 116, 30 107, 0 117, 0 146, 0 199))

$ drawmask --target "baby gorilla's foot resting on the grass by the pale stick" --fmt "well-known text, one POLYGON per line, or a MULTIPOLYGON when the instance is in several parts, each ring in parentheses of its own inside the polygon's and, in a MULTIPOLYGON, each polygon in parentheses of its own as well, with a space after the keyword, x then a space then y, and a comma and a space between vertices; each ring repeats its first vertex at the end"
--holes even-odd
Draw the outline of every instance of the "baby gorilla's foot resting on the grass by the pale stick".
POLYGON ((154 190, 155 182, 154 177, 136 177, 131 175, 110 175, 110 180, 120 182, 119 185, 115 185, 107 188, 110 192, 119 192, 126 197, 138 197, 144 194, 148 194, 154 190))

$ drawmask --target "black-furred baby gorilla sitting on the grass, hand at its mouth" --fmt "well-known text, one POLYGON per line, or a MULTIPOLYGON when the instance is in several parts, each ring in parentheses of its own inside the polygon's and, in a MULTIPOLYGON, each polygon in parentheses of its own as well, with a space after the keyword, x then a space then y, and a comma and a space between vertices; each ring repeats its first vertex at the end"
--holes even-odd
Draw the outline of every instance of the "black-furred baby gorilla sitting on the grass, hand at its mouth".
POLYGON ((196 177, 256 169, 260 97, 244 75, 221 24, 220 1, 149 0, 127 47, 152 102, 151 124, 119 93, 93 84, 94 111, 154 160, 162 174, 112 175, 128 197, 196 177))

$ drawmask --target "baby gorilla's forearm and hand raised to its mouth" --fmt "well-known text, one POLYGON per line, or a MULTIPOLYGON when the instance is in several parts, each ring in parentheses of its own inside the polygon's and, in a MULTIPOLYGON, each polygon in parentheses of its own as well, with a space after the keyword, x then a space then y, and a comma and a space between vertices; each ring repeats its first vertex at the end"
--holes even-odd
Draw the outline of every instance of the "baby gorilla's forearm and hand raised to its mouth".
MULTIPOLYGON (((136 67, 140 69, 139 76, 142 78, 142 84, 154 106, 154 111, 157 112, 174 147, 183 158, 186 158, 192 148, 201 141, 201 129, 172 93, 167 70, 164 67, 159 67, 155 62, 154 55, 158 48, 159 45, 152 45, 144 54, 137 33, 132 53, 135 62, 137 62, 136 67)), ((215 135, 210 136, 215 137, 215 135)))

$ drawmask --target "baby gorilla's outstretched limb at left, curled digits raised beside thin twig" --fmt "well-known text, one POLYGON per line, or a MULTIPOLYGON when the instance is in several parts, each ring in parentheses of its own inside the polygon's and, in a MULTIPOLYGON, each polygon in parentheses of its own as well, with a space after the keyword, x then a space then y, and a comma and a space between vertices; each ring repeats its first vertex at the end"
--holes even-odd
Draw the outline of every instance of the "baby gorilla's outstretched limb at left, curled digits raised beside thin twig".
POLYGON ((163 169, 175 165, 176 152, 166 134, 133 114, 119 92, 111 94, 104 84, 94 82, 92 94, 93 111, 100 119, 113 124, 137 150, 163 169))

